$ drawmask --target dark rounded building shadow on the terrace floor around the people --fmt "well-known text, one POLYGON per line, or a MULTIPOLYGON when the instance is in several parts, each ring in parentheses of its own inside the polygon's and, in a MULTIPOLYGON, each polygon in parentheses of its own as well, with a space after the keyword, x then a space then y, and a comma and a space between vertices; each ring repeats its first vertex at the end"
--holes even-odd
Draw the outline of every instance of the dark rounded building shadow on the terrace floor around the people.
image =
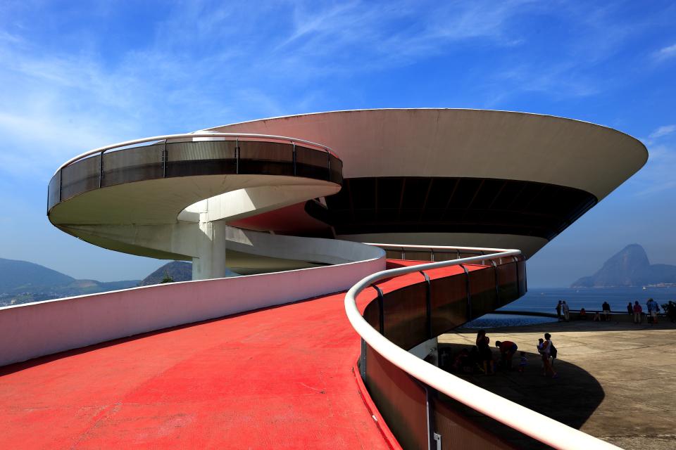
MULTIPOLYGON (((471 345, 439 344, 440 353, 451 353, 450 361, 453 361, 455 356, 463 349, 470 350, 471 348, 471 345)), ((497 349, 492 349, 492 351, 494 360, 499 361, 500 354, 497 349)), ((526 357, 527 365, 522 373, 517 370, 520 358, 519 352, 514 356, 514 369, 512 371, 496 366, 495 375, 484 375, 478 373, 478 371, 474 373, 453 372, 448 365, 445 367, 449 368, 453 375, 489 392, 544 414, 544 416, 553 420, 565 423, 572 428, 580 429, 605 397, 601 384, 584 369, 561 359, 556 359, 553 365, 558 373, 558 378, 545 377, 542 375, 540 355, 534 352, 526 352, 526 357)), ((489 430, 517 449, 551 448, 503 425, 497 420, 478 413, 458 401, 447 400, 449 406, 452 406, 465 418, 472 420, 478 427, 489 430)))

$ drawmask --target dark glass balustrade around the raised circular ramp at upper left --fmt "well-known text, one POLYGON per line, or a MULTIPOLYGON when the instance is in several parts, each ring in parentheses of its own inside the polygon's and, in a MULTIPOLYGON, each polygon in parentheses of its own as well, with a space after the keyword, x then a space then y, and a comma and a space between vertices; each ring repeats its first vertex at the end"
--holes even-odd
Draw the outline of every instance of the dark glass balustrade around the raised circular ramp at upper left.
POLYGON ((325 150, 275 141, 175 141, 107 150, 77 160, 49 181, 47 211, 94 189, 159 178, 263 174, 342 184, 342 161, 325 150), (101 160, 103 158, 103 160, 101 160))

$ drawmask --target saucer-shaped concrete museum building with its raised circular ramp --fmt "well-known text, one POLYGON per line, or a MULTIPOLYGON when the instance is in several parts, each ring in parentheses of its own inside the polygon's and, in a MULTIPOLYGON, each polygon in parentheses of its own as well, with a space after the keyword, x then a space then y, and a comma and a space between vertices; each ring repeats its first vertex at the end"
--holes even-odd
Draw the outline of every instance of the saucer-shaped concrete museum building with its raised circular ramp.
POLYGON ((91 186, 68 196, 61 181, 49 219, 104 248, 192 260, 194 279, 225 276, 227 267, 246 274, 352 260, 309 243, 298 253, 280 235, 518 248, 530 257, 647 158, 637 139, 607 127, 490 110, 338 111, 195 133, 144 143, 156 146, 153 158, 111 148, 98 165, 96 155, 65 165, 63 179, 89 164, 91 186), (295 168, 296 145, 313 167, 305 174, 295 168), (242 171, 244 162, 255 164, 242 171))

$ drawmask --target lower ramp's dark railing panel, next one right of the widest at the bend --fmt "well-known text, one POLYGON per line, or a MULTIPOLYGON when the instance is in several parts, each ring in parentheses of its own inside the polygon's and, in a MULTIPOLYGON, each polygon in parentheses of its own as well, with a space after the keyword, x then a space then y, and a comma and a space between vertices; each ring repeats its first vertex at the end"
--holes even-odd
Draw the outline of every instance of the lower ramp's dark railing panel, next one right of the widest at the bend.
POLYGON ((437 278, 430 283, 432 336, 438 336, 467 321, 465 275, 437 278))

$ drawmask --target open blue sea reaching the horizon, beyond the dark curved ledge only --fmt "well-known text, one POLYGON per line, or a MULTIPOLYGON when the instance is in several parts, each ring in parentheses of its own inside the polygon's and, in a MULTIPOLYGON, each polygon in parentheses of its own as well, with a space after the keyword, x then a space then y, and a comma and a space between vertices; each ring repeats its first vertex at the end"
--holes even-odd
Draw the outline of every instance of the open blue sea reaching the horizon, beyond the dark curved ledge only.
POLYGON ((501 311, 534 311, 556 314, 556 304, 565 300, 570 309, 584 308, 587 312, 601 311, 608 302, 611 311, 626 312, 627 303, 639 301, 646 311, 646 301, 652 297, 660 304, 676 302, 676 288, 529 288, 528 293, 504 307, 501 311))

